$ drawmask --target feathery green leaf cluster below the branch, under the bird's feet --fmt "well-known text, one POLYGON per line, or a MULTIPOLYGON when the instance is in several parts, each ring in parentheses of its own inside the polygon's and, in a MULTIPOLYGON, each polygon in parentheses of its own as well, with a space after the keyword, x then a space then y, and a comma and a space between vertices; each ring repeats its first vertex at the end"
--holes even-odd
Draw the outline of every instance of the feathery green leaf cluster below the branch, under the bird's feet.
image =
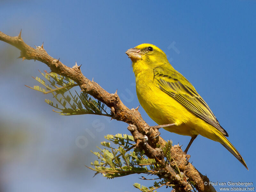
MULTIPOLYGON (((153 176, 153 179, 146 179, 143 176, 140 178, 143 180, 157 180, 150 187, 142 186, 140 183, 133 184, 135 188, 142 192, 156 192, 156 189, 160 187, 173 186, 168 178, 158 175, 158 172, 163 172, 164 166, 171 162, 172 141, 167 141, 165 146, 162 147, 165 164, 160 164, 155 159, 148 158, 145 151, 136 148, 132 135, 118 133, 116 135, 106 135, 105 139, 110 142, 101 142, 104 149, 97 147, 98 152, 91 151, 97 156, 97 160, 91 163, 93 167, 88 168, 95 171, 95 175, 101 173, 107 179, 131 174, 146 174, 149 178, 153 176)), ((175 172, 182 178, 183 173, 180 172, 178 167, 175 172)))

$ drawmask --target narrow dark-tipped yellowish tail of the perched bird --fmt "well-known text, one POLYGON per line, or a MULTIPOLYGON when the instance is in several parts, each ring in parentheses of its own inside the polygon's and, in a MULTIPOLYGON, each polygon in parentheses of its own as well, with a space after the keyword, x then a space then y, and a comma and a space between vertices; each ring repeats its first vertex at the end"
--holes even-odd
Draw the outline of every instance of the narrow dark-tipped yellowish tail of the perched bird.
POLYGON ((217 134, 219 139, 222 141, 220 142, 226 149, 228 149, 228 151, 230 153, 233 154, 233 156, 235 156, 244 166, 245 168, 249 171, 243 157, 240 155, 240 153, 236 150, 236 148, 229 142, 229 140, 222 134, 219 132, 219 134, 217 134))

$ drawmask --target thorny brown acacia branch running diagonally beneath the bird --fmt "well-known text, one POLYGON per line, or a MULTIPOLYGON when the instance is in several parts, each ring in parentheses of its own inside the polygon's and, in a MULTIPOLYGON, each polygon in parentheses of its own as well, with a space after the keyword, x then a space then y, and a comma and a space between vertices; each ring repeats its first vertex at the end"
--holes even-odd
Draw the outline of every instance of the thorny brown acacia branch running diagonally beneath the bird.
MULTIPOLYGON (((60 59, 54 59, 51 57, 45 51, 43 44, 36 48, 30 47, 22 40, 21 31, 19 36, 15 37, 8 36, 0 31, 0 40, 18 48, 21 51, 19 58, 22 58, 22 60, 27 59, 41 61, 51 69, 51 72, 57 73, 61 76, 66 76, 74 80, 82 91, 92 95, 95 99, 98 99, 102 103, 106 104, 111 109, 111 115, 113 119, 123 121, 128 124, 133 124, 136 126, 140 134, 146 135, 148 137, 148 149, 150 147, 154 150, 156 148, 156 144, 164 146, 166 141, 160 136, 155 138, 158 130, 150 128, 150 126, 142 119, 137 108, 127 108, 120 100, 117 92, 114 94, 109 93, 96 82, 86 78, 81 72, 81 65, 77 66, 76 64, 72 68, 67 67, 60 61, 60 59)), ((186 177, 195 183, 195 187, 199 192, 215 192, 215 189, 212 187, 212 185, 204 185, 204 182, 208 182, 209 179, 197 171, 192 164, 187 162, 186 156, 180 147, 172 147, 171 155, 172 159, 176 161, 180 171, 184 172, 186 177)))

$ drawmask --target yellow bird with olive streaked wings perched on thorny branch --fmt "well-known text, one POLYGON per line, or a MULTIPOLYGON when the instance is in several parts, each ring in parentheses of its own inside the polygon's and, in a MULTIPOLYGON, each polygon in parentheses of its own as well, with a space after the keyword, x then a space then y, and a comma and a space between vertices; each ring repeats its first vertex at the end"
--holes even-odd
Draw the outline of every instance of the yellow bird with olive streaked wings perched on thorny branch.
POLYGON ((125 53, 132 60, 137 96, 148 116, 167 131, 191 136, 185 153, 200 134, 220 142, 248 169, 209 106, 161 49, 140 44, 125 53))

